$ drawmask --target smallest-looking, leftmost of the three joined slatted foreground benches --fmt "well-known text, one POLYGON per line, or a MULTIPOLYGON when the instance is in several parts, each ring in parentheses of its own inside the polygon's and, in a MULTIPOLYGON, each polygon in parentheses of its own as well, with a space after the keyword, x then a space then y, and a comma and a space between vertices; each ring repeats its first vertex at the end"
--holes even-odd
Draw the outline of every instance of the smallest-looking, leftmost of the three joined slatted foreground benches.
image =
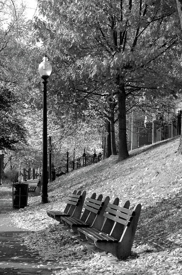
POLYGON ((62 223, 62 217, 73 216, 75 218, 80 218, 82 213, 82 207, 85 201, 85 196, 86 191, 82 192, 81 190, 78 190, 77 192, 77 190, 74 190, 72 194, 69 194, 67 198, 67 205, 63 212, 46 210, 47 215, 60 223, 62 223))

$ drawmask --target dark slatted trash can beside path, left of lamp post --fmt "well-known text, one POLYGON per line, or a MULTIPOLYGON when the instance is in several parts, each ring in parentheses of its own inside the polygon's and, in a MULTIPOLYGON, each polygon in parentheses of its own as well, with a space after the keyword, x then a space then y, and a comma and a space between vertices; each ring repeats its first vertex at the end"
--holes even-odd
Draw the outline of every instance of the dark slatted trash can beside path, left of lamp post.
POLYGON ((20 209, 27 206, 28 184, 13 183, 13 209, 20 209))

